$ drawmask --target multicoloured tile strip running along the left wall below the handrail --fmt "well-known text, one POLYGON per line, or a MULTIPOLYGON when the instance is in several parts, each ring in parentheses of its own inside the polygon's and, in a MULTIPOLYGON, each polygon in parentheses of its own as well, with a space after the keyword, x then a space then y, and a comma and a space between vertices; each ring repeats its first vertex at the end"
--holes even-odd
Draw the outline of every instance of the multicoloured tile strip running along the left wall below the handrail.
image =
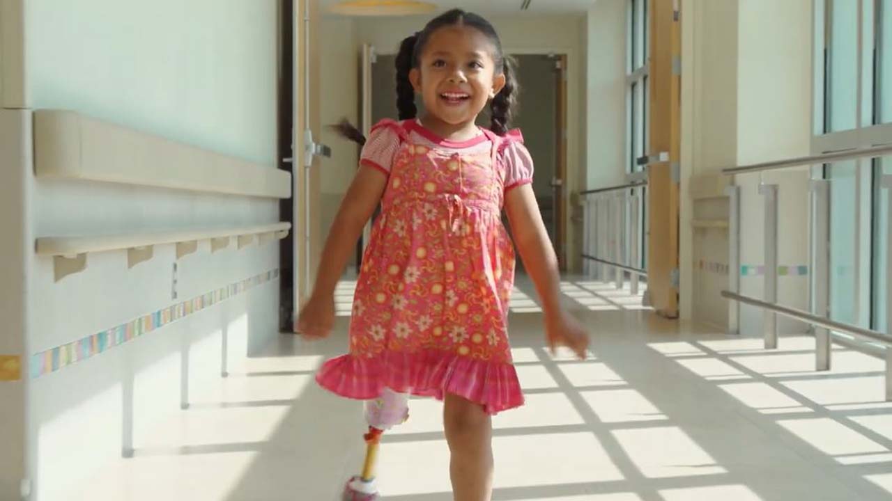
POLYGON ((36 379, 42 375, 54 373, 67 365, 74 365, 89 357, 95 357, 103 353, 103 351, 108 351, 128 341, 133 341, 139 336, 151 333, 167 324, 172 324, 180 318, 190 316, 204 308, 210 308, 221 301, 228 300, 262 283, 276 280, 278 277, 279 270, 274 269, 252 276, 241 282, 232 283, 216 291, 202 294, 191 300, 140 316, 101 333, 95 333, 78 341, 72 341, 54 349, 47 349, 32 355, 30 365, 31 378, 36 379))

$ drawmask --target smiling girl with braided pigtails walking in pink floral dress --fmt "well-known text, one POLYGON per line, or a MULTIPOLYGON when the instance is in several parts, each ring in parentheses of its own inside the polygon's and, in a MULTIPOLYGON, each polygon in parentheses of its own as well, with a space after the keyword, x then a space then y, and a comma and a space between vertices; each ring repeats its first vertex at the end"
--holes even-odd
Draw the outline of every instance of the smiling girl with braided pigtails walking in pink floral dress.
POLYGON ((488 500, 491 415, 524 402, 508 345, 515 258, 502 209, 541 297, 549 346, 585 357, 588 336, 560 306, 558 261, 530 185, 533 161, 520 133, 508 131, 517 88, 495 29, 473 13, 446 12, 402 42, 396 65, 402 121, 377 124, 368 142, 348 131, 364 143, 361 165, 297 330, 309 338, 331 332, 335 286, 381 201, 353 301, 350 352, 326 362, 317 381, 346 398, 377 399, 368 414, 394 400, 404 405, 399 394, 444 400, 454 497, 488 500), (490 129, 475 125, 487 103, 490 129))

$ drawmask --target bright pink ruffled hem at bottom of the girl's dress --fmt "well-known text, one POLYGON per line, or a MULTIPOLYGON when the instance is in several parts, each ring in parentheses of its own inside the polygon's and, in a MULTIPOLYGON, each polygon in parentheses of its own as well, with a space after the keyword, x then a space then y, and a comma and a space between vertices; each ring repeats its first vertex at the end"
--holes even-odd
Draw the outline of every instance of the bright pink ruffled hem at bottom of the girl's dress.
POLYGON ((451 393, 480 404, 489 415, 524 405, 514 365, 436 350, 332 358, 319 369, 316 381, 326 390, 357 400, 378 398, 389 388, 438 400, 451 393))

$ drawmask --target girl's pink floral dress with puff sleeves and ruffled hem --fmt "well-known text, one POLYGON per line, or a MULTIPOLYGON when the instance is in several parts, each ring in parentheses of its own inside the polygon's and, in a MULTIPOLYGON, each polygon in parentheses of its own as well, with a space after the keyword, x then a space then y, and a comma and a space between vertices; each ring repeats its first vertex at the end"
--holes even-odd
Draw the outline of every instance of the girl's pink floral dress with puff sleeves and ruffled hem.
POLYGON ((350 352, 322 366, 322 387, 357 399, 384 388, 453 393, 489 414, 523 405, 508 344, 515 256, 501 212, 505 193, 532 181, 533 164, 519 131, 481 132, 455 144, 417 121, 373 129, 362 163, 388 184, 353 300, 350 352))

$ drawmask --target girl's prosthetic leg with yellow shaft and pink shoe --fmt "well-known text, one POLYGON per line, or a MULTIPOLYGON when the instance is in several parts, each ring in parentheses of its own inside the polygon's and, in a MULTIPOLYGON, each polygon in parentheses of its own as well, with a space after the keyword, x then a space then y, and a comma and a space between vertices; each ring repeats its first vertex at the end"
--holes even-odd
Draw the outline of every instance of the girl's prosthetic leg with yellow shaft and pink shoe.
POLYGON ((381 397, 366 402, 366 461, 362 473, 347 482, 343 501, 373 501, 378 499, 375 466, 381 435, 409 419, 409 396, 384 389, 381 397))

